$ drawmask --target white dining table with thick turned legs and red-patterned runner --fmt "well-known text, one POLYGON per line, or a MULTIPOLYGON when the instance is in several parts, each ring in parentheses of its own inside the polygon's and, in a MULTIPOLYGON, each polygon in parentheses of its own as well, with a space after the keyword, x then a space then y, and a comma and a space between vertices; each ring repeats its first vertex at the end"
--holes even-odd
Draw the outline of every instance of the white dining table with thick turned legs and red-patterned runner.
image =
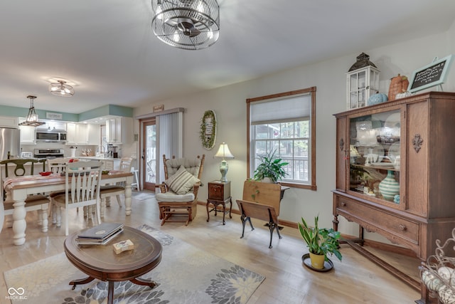
MULTIPOLYGON (((129 216, 131 214, 131 184, 133 182, 133 174, 131 172, 102 174, 102 185, 115 184, 117 182, 125 182, 125 215, 129 216)), ((28 175, 23 177, 7 177, 4 179, 4 189, 8 193, 9 199, 14 201, 14 245, 21 246, 26 242, 25 199, 27 195, 65 190, 65 176, 50 175, 48 177, 42 177, 39 175, 28 175)), ((102 210, 101 214, 104 215, 105 202, 100 207, 102 210)))

